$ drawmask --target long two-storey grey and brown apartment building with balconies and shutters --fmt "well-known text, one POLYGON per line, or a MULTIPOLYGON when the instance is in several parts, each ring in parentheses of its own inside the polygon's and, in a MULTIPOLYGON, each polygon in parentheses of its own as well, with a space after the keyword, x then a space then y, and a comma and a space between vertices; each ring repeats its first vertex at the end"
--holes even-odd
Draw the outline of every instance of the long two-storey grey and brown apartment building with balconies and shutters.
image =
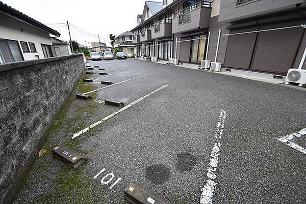
MULTIPOLYGON (((132 29, 138 56, 285 75, 306 46, 303 0, 173 0, 132 29)), ((146 8, 143 10, 144 11, 146 8)))

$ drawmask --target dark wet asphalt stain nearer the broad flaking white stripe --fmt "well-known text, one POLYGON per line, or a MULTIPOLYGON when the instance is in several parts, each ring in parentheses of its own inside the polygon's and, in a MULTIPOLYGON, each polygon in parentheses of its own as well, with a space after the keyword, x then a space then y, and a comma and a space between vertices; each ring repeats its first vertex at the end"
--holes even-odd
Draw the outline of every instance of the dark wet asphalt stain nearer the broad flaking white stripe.
POLYGON ((190 171, 196 164, 196 158, 190 153, 181 153, 176 156, 176 170, 180 172, 190 171))

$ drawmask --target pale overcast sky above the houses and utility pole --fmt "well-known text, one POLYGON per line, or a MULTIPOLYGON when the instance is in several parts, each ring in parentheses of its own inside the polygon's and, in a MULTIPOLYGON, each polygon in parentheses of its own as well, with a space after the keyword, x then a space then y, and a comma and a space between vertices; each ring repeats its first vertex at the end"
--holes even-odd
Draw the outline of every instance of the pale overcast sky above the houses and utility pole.
MULTIPOLYGON (((154 0, 162 2, 162 0, 154 0)), ((142 14, 145 0, 2 0, 3 3, 34 18, 41 23, 65 23, 95 35, 81 33, 71 26, 71 39, 85 45, 85 41, 100 41, 110 45, 109 34, 120 35, 137 25, 137 14, 142 14)), ((61 34, 59 39, 68 41, 65 24, 47 24, 61 34)))

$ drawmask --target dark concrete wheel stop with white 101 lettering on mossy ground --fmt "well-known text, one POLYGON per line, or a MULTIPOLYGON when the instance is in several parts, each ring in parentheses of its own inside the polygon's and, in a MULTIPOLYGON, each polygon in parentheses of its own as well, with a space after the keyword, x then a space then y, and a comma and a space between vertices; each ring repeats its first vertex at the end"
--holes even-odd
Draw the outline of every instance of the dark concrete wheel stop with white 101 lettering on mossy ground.
POLYGON ((74 152, 73 150, 70 150, 62 145, 58 145, 51 151, 54 158, 61 160, 62 162, 74 169, 79 168, 82 164, 88 161, 88 158, 85 158, 79 153, 74 152))

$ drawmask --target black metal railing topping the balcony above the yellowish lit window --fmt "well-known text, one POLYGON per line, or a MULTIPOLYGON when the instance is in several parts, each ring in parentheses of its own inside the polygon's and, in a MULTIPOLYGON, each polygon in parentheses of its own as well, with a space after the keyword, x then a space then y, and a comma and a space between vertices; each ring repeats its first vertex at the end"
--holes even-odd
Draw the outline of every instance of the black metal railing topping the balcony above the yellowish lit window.
MULTIPOLYGON (((253 0, 252 0, 253 1, 253 0)), ((189 7, 187 7, 186 9, 183 9, 177 13, 175 13, 173 16, 174 17, 179 17, 179 24, 185 23, 190 21, 190 12, 201 8, 201 7, 211 7, 213 1, 200 1, 198 3, 195 3, 189 7)))

